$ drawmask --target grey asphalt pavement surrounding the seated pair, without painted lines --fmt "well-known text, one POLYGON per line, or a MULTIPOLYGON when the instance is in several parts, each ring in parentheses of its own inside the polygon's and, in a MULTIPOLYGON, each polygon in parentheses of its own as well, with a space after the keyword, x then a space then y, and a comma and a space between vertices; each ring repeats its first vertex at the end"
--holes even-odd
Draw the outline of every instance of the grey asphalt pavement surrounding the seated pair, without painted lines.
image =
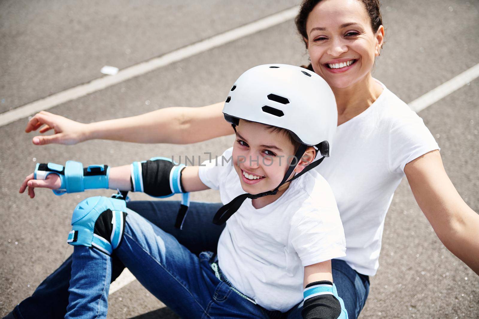
MULTIPOLYGON (((298 1, 0 1, 0 112, 250 23, 298 1)), ((386 45, 374 76, 409 103, 479 63, 479 1, 382 1, 386 45)), ((231 83, 263 63, 305 64, 293 21, 159 68, 49 111, 89 123, 171 106, 224 100, 231 83)), ((441 147, 459 194, 479 212, 479 80, 419 115, 441 147)), ((0 127, 0 316, 71 253, 71 211, 89 193, 18 194, 37 162, 121 165, 152 156, 221 154, 233 137, 191 145, 94 140, 34 146, 27 119, 0 127)), ((110 191, 94 191, 109 195, 110 191)), ((132 194, 133 199, 147 199, 132 194)), ((216 191, 192 200, 219 201, 216 191)), ((389 209, 376 276, 360 318, 479 318, 479 277, 450 253, 422 214, 407 180, 389 209)), ((177 318, 138 282, 110 296, 109 318, 177 318)))

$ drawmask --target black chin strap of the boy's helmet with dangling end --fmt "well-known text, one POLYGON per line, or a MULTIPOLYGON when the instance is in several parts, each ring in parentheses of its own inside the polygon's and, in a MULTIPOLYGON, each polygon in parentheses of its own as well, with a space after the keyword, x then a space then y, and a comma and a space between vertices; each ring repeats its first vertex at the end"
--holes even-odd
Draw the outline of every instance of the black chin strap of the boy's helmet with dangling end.
POLYGON ((318 159, 317 161, 309 164, 303 171, 301 171, 299 174, 295 175, 292 179, 287 181, 288 177, 291 175, 291 173, 293 173, 295 167, 297 166, 297 163, 299 162, 301 157, 304 155, 307 148, 308 148, 308 146, 304 145, 304 144, 301 144, 299 146, 299 148, 298 148, 298 150, 295 154, 295 157, 293 158, 293 160, 291 161, 291 164, 289 165, 288 171, 286 171, 286 174, 285 174, 285 177, 283 178, 283 181, 281 181, 281 183, 278 186, 276 186, 276 188, 274 190, 259 193, 259 194, 245 193, 245 194, 241 194, 241 195, 235 197, 231 202, 229 202, 226 205, 223 205, 220 209, 218 209, 215 217, 213 217, 213 223, 216 224, 216 225, 223 225, 228 220, 229 217, 231 217, 234 213, 236 213, 236 211, 239 209, 239 206, 241 206, 241 204, 243 204, 243 202, 246 198, 256 199, 256 198, 260 198, 260 197, 267 196, 267 195, 275 195, 275 194, 278 193, 278 189, 281 185, 283 185, 286 182, 291 182, 291 181, 297 179, 299 176, 303 175, 307 171, 309 171, 309 170, 315 168, 316 166, 318 166, 323 161, 324 156, 322 158, 318 159))

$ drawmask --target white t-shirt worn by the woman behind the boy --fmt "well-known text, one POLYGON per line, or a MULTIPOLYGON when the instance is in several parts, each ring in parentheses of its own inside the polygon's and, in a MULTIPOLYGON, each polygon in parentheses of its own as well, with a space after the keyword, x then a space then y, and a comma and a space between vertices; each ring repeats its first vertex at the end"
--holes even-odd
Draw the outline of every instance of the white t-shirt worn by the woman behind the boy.
POLYGON ((379 267, 384 220, 404 166, 439 149, 422 118, 380 84, 377 100, 338 126, 331 157, 316 167, 341 214, 346 256, 339 259, 366 275, 379 267))

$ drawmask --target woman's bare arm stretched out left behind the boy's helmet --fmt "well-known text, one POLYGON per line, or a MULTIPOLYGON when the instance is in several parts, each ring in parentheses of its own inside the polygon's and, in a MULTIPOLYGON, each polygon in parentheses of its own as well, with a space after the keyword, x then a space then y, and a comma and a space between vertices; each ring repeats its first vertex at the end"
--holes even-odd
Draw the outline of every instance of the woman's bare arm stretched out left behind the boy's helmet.
POLYGON ((90 139, 137 143, 188 144, 232 134, 222 113, 223 102, 203 107, 169 107, 149 113, 83 124, 42 111, 28 122, 25 132, 54 130, 33 137, 35 145, 73 145, 90 139))

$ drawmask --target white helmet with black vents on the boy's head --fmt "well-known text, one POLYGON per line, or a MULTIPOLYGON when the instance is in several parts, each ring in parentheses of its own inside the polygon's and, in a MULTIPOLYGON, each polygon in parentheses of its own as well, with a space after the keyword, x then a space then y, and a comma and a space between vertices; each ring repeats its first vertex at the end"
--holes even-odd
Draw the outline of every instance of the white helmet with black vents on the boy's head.
POLYGON ((298 142, 331 155, 336 100, 328 83, 308 69, 287 64, 250 68, 229 91, 223 114, 235 125, 244 119, 285 128, 298 142))

